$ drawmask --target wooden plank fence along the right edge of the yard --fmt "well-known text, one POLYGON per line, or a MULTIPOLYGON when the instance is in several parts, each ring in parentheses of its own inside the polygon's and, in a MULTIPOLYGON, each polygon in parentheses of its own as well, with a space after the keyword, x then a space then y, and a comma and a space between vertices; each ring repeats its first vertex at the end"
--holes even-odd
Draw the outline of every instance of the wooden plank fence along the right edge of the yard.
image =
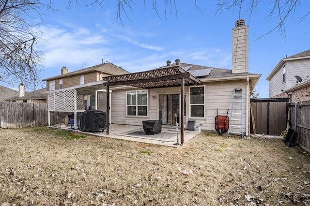
POLYGON ((298 133, 298 146, 310 152, 310 101, 290 103, 290 127, 298 133), (296 114, 296 115, 295 115, 296 114))

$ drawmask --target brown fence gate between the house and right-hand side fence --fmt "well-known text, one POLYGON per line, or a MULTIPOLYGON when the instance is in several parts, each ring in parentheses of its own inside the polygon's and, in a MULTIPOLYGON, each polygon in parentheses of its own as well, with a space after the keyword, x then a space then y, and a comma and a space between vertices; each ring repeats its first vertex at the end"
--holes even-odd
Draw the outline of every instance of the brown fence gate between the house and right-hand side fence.
MULTIPOLYGON (((286 129, 289 98, 251 99, 257 134, 280 135, 286 129)), ((251 119, 251 133, 253 122, 251 119)))

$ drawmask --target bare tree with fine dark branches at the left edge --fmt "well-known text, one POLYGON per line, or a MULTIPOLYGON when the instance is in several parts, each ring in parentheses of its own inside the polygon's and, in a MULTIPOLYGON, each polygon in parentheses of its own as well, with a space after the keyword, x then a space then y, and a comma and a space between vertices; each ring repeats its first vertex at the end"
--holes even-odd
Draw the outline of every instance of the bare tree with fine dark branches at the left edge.
POLYGON ((42 6, 49 8, 40 0, 0 0, 0 83, 33 86, 39 80, 43 56, 36 49, 35 25, 29 22, 33 15, 40 18, 42 6))

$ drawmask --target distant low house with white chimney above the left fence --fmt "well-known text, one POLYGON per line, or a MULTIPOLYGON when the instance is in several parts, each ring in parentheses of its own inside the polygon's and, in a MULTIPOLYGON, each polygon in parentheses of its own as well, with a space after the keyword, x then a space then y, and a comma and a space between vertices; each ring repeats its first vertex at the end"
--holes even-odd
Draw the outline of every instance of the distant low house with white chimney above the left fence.
POLYGON ((14 97, 5 99, 8 102, 19 103, 47 103, 46 88, 37 89, 27 92, 23 84, 18 87, 18 94, 14 97))

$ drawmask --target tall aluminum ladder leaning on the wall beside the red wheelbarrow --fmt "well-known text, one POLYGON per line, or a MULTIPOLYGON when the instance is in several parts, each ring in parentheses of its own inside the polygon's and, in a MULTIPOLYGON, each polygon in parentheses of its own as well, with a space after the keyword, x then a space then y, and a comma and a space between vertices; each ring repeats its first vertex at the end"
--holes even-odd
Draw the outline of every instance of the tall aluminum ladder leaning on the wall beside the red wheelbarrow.
POLYGON ((243 103, 242 88, 233 90, 233 104, 231 109, 231 117, 229 121, 229 129, 227 137, 230 133, 240 134, 243 137, 243 103), (240 131, 240 132, 238 132, 240 131))

